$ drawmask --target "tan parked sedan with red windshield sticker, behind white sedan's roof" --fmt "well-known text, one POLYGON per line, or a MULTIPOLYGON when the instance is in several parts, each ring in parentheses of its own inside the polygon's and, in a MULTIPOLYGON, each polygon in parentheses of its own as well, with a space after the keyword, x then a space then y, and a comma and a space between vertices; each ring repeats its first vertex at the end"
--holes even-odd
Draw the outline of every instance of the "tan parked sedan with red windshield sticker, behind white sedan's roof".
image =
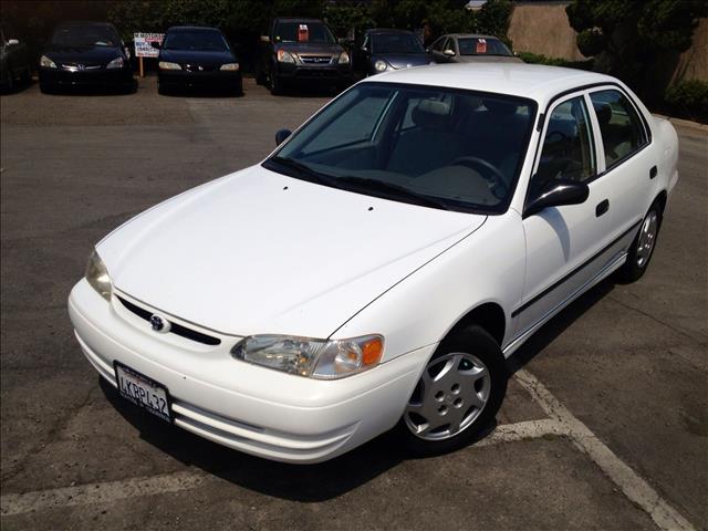
POLYGON ((437 39, 429 48, 436 63, 523 63, 496 37, 451 33, 437 39))

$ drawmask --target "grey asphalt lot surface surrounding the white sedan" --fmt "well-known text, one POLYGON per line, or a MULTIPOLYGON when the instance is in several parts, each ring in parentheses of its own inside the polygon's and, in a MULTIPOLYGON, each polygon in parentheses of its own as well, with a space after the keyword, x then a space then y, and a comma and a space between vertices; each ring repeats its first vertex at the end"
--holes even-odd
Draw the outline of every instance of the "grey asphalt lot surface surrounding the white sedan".
MULTIPOLYGON (((708 129, 646 275, 607 280, 510 361, 497 428, 406 459, 379 437, 322 465, 232 451, 119 400, 66 296, 139 211, 261 160, 332 94, 0 98, 1 525, 14 529, 708 529, 708 129)), ((238 206, 235 206, 238 208, 238 206)))

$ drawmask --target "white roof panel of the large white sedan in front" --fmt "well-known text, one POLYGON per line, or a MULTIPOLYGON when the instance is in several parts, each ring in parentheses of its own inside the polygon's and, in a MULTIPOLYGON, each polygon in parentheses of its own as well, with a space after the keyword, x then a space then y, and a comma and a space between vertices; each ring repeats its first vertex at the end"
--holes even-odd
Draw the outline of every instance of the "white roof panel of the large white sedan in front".
MULTIPOLYGON (((544 105, 553 96, 595 83, 617 83, 596 72, 525 63, 431 64, 384 72, 362 83, 410 83, 508 94, 544 105)), ((623 85, 624 86, 624 85, 623 85)))

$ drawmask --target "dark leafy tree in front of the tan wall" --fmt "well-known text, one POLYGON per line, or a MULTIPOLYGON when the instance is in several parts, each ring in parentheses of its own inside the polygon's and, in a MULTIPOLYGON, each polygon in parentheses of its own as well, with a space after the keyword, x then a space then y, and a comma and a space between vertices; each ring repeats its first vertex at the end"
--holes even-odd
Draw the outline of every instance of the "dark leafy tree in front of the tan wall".
POLYGON ((615 75, 656 102, 678 54, 690 46, 705 0, 574 0, 566 9, 577 48, 595 70, 615 75))

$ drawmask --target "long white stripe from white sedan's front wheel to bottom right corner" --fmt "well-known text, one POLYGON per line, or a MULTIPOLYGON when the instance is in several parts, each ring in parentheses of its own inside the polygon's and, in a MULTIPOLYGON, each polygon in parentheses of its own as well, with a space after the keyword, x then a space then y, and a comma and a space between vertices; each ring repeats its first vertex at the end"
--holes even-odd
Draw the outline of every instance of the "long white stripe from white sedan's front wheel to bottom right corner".
POLYGON ((694 530, 695 528, 656 490, 622 461, 587 426, 575 418, 535 376, 527 371, 516 374, 519 383, 541 408, 566 433, 573 444, 597 465, 633 502, 644 509, 660 529, 694 530))

